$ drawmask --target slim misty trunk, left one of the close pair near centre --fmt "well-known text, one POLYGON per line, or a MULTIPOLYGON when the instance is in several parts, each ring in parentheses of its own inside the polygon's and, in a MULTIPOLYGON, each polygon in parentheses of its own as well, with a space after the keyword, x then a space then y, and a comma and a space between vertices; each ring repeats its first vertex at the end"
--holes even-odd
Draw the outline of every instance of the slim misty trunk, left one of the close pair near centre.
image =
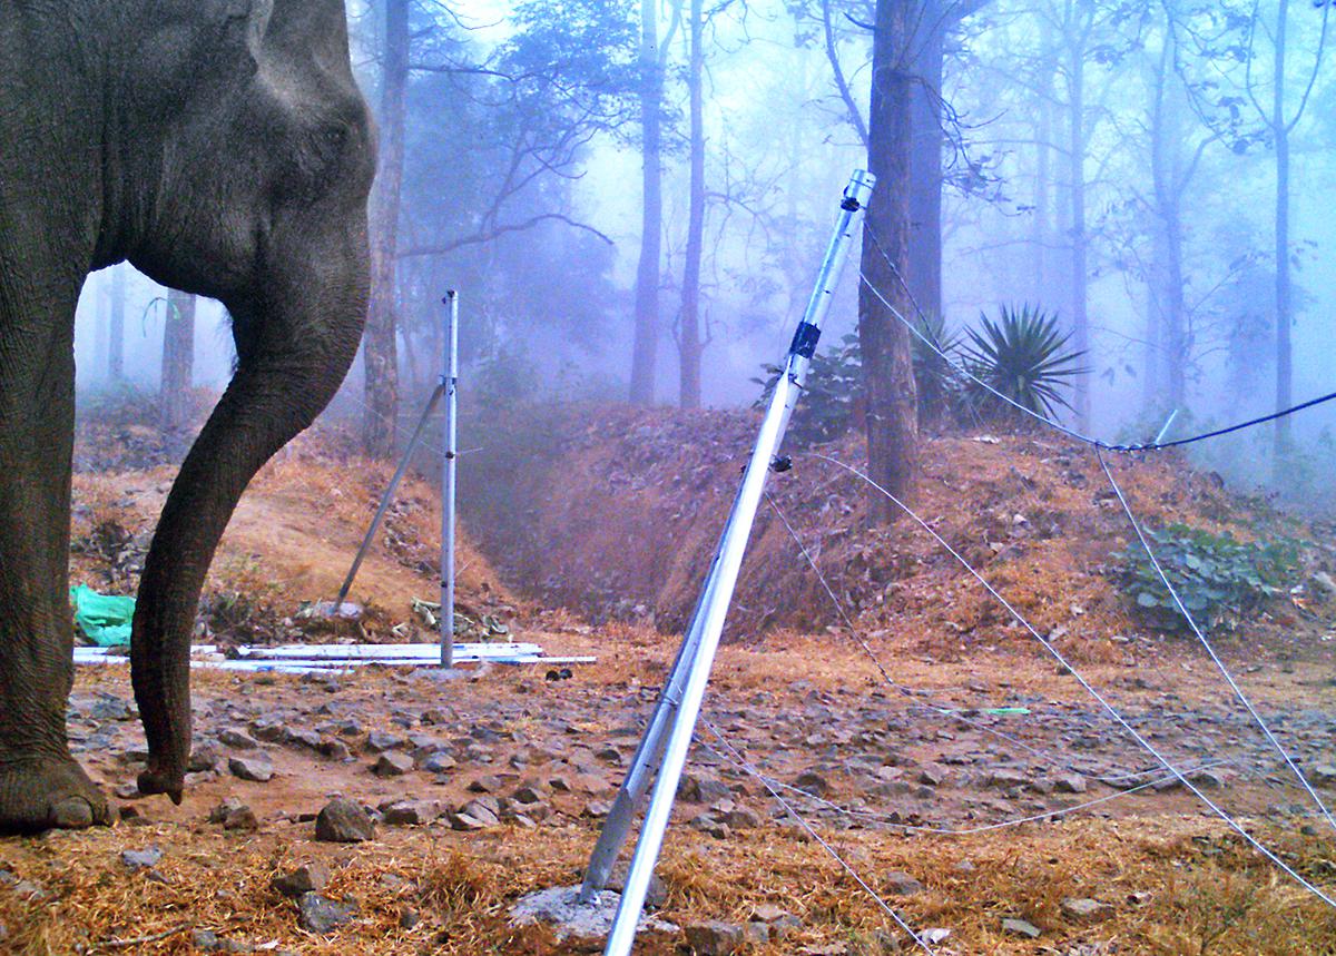
POLYGON ((640 263, 636 267, 636 330, 631 351, 631 401, 653 405, 659 362, 659 282, 663 259, 663 63, 656 0, 640 0, 640 263))

